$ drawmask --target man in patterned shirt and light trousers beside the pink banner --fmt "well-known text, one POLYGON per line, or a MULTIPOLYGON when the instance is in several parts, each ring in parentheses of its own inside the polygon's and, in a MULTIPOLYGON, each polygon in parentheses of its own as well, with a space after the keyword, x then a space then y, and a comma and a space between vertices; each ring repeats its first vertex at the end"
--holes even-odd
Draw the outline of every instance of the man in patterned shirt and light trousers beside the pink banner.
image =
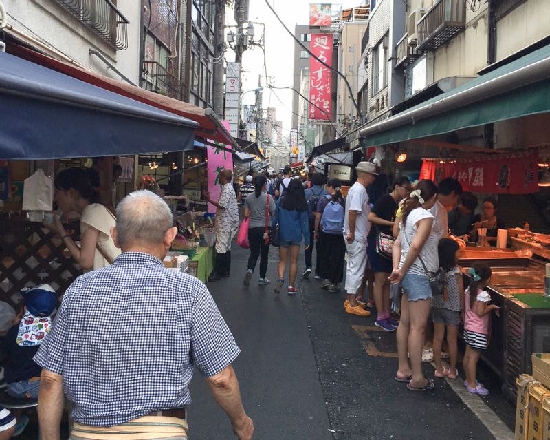
POLYGON ((212 203, 216 210, 216 266, 214 271, 208 277, 208 281, 218 281, 221 277, 229 277, 231 267, 231 240, 239 229, 239 207, 236 204, 236 195, 231 181, 233 180, 233 171, 224 169, 219 175, 221 193, 219 199, 214 202, 210 198, 210 193, 204 191, 204 198, 212 203))

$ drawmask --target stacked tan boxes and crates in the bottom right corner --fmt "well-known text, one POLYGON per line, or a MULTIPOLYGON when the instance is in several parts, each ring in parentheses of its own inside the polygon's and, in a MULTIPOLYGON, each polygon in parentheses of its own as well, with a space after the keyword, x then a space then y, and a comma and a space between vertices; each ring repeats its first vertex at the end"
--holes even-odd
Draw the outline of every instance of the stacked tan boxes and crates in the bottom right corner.
POLYGON ((520 375, 515 440, 550 440, 550 353, 535 353, 533 375, 520 375))

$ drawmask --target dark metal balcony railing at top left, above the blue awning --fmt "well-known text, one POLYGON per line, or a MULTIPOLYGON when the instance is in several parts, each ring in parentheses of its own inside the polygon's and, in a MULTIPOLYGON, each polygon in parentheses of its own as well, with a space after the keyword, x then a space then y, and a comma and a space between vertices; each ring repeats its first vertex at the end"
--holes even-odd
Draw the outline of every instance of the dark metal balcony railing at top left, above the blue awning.
POLYGON ((128 48, 129 21, 111 0, 56 0, 63 8, 118 50, 128 48))

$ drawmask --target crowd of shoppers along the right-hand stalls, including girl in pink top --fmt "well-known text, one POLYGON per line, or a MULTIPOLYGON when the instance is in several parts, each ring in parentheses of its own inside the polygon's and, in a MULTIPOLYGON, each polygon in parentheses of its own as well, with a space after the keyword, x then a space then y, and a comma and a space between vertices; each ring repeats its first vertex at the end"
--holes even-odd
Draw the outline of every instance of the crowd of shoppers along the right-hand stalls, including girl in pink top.
MULTIPOLYGON (((356 180, 345 197, 342 182, 337 178, 326 181, 322 173, 309 173, 302 185, 300 180, 292 178, 291 171, 285 167, 283 176, 274 181, 277 201, 270 224, 277 229, 280 240, 275 292, 283 289, 288 262, 287 293, 297 292, 296 266, 302 243, 305 249, 303 277, 308 278, 314 271, 315 277, 321 279, 321 289, 339 292, 345 270, 346 313, 370 315, 361 295, 365 284, 371 284, 372 306, 377 312, 375 325, 388 332, 397 329, 399 365, 395 380, 406 383, 412 391, 431 390, 435 386, 434 379, 424 376, 422 362, 435 361, 437 378, 459 377, 457 339, 459 325, 465 322, 465 386, 469 392, 486 395, 488 390, 475 379, 475 367, 480 350, 487 346, 487 316, 496 310, 495 306, 487 305, 490 296, 483 291, 490 271, 487 275, 487 270, 479 267, 472 275, 474 281, 479 278, 477 284, 470 286, 472 291, 478 291, 474 296, 468 290, 465 292, 457 263, 463 240, 467 241, 469 235, 475 240, 476 229, 482 226, 492 231, 502 224, 496 217, 496 200, 485 199, 483 216, 475 216, 477 198, 472 193, 463 193, 456 179, 445 178, 438 185, 431 180, 420 180, 412 189, 410 180, 402 176, 393 182, 388 193, 371 205, 367 189, 378 176, 374 163, 358 163, 356 180), (392 237, 395 242, 388 251, 384 247, 392 237), (430 277, 438 271, 444 274, 445 287, 441 295, 434 295, 430 277), (393 301, 399 315, 391 310, 392 285, 396 286, 393 301), (443 352, 444 339, 447 353, 443 352), (443 355, 449 359, 448 367, 442 362, 443 355)), ((267 255, 269 247, 269 240, 259 240, 267 233, 267 227, 261 227, 268 209, 264 181, 263 176, 259 176, 257 183, 254 180, 256 193, 245 201, 246 206, 260 200, 256 203, 264 209, 256 212, 258 227, 252 229, 257 231, 249 231, 251 251, 245 286, 250 284, 260 249, 267 255), (263 196, 258 186, 262 187, 263 196)), ((245 216, 254 218, 248 210, 245 216)), ((263 280, 262 266, 260 284, 269 282, 263 280)))

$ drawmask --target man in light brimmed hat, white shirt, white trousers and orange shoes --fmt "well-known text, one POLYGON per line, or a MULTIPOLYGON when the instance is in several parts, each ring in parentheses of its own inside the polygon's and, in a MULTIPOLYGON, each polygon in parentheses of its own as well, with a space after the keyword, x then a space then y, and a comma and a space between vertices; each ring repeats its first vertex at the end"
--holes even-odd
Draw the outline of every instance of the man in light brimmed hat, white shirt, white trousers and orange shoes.
POLYGON ((360 162, 357 167, 357 181, 349 189, 344 214, 344 240, 346 241, 346 291, 344 308, 351 315, 369 316, 362 304, 357 301, 357 293, 363 280, 366 267, 366 238, 371 229, 369 222, 369 196, 366 187, 373 185, 378 176, 376 165, 360 162))

